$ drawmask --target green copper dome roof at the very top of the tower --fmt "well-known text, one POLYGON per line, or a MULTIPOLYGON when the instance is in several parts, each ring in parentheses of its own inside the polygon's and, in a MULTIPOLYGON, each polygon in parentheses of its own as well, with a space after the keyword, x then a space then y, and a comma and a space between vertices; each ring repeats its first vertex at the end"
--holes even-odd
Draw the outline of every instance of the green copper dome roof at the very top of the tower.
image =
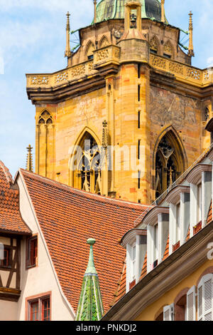
MULTIPOLYGON (((97 22, 107 19, 124 19, 125 4, 128 0, 101 0, 97 4, 97 22)), ((142 19, 161 21, 161 4, 158 0, 139 0, 142 19)), ((168 23, 166 21, 166 23, 168 23)))

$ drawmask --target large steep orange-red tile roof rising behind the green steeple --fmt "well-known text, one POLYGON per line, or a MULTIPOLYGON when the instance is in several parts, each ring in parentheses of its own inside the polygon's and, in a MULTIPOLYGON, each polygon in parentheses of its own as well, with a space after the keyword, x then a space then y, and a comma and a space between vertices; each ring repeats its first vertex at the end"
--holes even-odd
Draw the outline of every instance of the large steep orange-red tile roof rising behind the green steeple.
POLYGON ((60 182, 19 170, 26 182, 58 279, 76 310, 89 249, 94 237, 94 262, 99 274, 104 311, 114 301, 126 250, 119 239, 146 206, 76 190, 60 182))

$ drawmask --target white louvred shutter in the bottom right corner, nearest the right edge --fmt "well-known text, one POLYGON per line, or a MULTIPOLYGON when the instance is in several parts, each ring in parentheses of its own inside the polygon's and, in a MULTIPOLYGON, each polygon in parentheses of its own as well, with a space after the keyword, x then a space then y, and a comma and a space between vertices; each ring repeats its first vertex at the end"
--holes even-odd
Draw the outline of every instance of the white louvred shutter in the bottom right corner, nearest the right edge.
POLYGON ((198 319, 213 320, 213 274, 202 277, 198 285, 198 319))

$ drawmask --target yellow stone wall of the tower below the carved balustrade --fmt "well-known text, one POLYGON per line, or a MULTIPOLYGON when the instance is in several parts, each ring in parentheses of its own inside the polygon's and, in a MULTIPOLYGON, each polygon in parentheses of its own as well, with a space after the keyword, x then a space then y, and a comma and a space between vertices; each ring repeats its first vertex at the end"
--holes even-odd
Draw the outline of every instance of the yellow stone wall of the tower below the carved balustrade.
POLYGON ((37 126, 35 172, 77 187, 69 167, 70 148, 78 143, 85 130, 92 133, 98 145, 102 145, 102 122, 107 120, 109 145, 120 148, 127 145, 129 153, 131 146, 135 146, 137 156, 138 140, 141 140, 140 165, 136 157, 137 169, 141 170, 141 188, 138 189, 137 170, 124 170, 129 157, 124 158, 122 154, 121 170, 109 172, 105 187, 107 183, 109 195, 116 192, 117 198, 149 204, 155 199, 152 189, 156 143, 168 129, 174 130, 185 148, 185 168, 209 146, 210 137, 204 130, 206 123, 202 122, 202 108, 199 99, 153 86, 148 66, 141 64, 138 78, 138 64, 124 63, 119 73, 106 78, 105 88, 57 105, 39 105, 36 108, 36 123, 40 113, 48 110, 53 116, 53 125, 48 126, 47 135, 44 125, 37 126), (138 85, 141 86, 140 101, 138 85), (139 129, 138 110, 141 111, 139 129))

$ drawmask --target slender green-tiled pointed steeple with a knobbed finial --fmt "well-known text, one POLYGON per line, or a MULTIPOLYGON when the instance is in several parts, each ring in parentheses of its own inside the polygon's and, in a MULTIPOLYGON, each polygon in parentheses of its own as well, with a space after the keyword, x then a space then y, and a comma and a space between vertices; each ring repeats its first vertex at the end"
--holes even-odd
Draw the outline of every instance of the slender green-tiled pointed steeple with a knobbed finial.
POLYGON ((82 292, 77 307, 76 321, 99 321, 103 314, 102 294, 99 278, 94 267, 93 245, 95 239, 87 239, 90 245, 89 262, 82 283, 82 292))

